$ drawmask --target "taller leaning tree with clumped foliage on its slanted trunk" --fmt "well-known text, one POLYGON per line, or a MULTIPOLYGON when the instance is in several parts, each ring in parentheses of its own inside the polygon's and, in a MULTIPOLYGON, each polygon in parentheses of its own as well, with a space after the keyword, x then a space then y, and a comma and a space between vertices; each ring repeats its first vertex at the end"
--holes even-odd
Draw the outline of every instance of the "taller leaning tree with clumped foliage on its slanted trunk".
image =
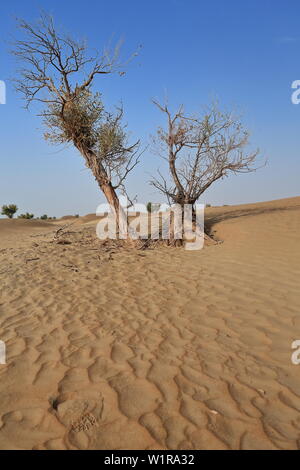
POLYGON ((52 17, 42 15, 37 24, 19 21, 24 33, 12 53, 22 68, 16 89, 26 102, 42 105, 40 116, 47 127, 45 138, 52 143, 71 143, 84 157, 115 214, 120 211, 124 230, 125 214, 116 191, 125 191, 124 181, 139 161, 139 141, 128 144, 123 109, 105 111, 101 95, 92 91, 98 75, 119 73, 119 47, 96 57, 89 55, 85 42, 78 42, 55 28, 52 17))

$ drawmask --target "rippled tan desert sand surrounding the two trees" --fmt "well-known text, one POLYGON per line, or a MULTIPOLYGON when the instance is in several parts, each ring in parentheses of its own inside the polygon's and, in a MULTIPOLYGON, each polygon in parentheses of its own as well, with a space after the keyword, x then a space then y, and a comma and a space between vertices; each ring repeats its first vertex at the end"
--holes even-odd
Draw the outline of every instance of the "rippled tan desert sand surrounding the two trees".
POLYGON ((210 208, 196 252, 0 220, 0 448, 300 448, 299 216, 210 208))

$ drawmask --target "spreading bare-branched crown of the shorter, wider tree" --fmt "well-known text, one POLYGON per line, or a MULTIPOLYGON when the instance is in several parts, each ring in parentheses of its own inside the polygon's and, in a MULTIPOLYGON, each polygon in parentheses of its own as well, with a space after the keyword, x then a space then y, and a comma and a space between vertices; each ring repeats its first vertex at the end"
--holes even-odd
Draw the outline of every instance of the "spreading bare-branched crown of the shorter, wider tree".
POLYGON ((190 204, 217 180, 230 173, 249 173, 258 150, 248 151, 249 133, 233 114, 213 104, 203 116, 188 116, 183 106, 172 114, 167 104, 153 103, 167 119, 154 137, 155 149, 168 162, 169 176, 158 171, 150 181, 169 203, 190 204), (169 181, 171 182, 169 183, 169 181))

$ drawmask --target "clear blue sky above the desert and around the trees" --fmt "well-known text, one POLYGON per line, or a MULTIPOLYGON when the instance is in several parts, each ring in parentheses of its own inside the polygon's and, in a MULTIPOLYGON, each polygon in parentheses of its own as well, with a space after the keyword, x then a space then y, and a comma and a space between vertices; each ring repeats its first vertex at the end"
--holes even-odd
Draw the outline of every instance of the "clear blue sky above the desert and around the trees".
MULTIPOLYGON (((75 38, 102 49, 124 39, 123 55, 140 44, 124 77, 95 83, 108 107, 123 101, 132 136, 146 145, 163 116, 151 98, 167 94, 173 107, 196 112, 213 97, 243 114, 251 142, 268 165, 256 173, 229 177, 205 193, 202 202, 237 204, 297 196, 300 174, 300 105, 291 103, 291 84, 300 79, 300 3, 296 0, 11 0, 2 2, 0 80, 13 77, 9 41, 15 17, 34 20, 39 11, 75 38)), ((42 125, 22 109, 7 82, 0 105, 0 205, 21 212, 61 216, 94 212, 103 197, 75 150, 50 146, 42 125)), ((162 162, 146 151, 128 180, 140 202, 161 201, 148 185, 162 162)))

